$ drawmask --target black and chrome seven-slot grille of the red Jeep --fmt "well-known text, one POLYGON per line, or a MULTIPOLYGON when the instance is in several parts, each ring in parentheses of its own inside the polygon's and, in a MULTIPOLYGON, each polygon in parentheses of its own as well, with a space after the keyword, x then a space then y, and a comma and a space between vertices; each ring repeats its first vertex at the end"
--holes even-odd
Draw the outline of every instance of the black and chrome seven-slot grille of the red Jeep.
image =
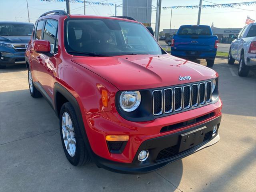
POLYGON ((164 90, 154 90, 152 95, 154 115, 177 112, 209 103, 212 97, 212 82, 207 81, 164 90))

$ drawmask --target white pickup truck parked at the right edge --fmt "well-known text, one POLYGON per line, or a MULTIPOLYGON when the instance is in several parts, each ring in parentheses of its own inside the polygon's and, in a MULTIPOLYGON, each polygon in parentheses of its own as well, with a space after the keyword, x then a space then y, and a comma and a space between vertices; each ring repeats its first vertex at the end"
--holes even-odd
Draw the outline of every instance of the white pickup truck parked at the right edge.
POLYGON ((246 77, 250 66, 256 66, 256 23, 251 23, 239 32, 230 44, 228 64, 239 62, 238 75, 246 77))

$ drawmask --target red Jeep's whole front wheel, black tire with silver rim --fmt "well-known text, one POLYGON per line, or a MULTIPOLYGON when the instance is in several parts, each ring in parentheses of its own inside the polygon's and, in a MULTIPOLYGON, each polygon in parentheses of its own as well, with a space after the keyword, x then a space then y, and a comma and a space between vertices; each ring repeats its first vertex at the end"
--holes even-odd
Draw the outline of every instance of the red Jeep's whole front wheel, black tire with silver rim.
POLYGON ((66 158, 72 165, 80 166, 90 161, 76 112, 70 102, 64 103, 60 109, 60 135, 66 158))

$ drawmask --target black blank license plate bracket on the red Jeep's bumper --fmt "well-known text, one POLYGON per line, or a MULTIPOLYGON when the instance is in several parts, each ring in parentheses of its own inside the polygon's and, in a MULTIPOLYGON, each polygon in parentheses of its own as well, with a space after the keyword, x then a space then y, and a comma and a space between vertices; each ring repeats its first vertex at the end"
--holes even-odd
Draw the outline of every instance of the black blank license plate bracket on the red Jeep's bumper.
POLYGON ((204 141, 206 126, 180 135, 179 153, 201 144, 204 141))

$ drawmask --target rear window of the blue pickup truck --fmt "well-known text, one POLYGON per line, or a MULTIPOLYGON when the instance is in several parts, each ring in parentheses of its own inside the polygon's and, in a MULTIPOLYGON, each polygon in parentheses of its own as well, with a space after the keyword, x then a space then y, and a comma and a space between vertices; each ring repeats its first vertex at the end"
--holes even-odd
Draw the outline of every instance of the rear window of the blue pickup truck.
POLYGON ((180 26, 178 35, 212 35, 207 26, 180 26))

